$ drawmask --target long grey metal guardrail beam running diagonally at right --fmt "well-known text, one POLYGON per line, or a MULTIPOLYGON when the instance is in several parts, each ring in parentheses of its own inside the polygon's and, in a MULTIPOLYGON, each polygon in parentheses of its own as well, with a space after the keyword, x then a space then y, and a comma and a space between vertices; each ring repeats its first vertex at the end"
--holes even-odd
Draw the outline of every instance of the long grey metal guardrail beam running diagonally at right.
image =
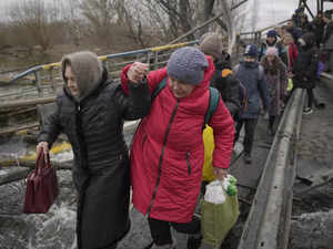
POLYGON ((290 100, 276 136, 265 162, 253 205, 250 209, 238 249, 280 249, 285 248, 289 229, 282 220, 289 220, 290 198, 293 177, 287 177, 291 167, 293 141, 302 113, 304 90, 295 90, 290 100), (289 180, 289 183, 286 183, 289 180))

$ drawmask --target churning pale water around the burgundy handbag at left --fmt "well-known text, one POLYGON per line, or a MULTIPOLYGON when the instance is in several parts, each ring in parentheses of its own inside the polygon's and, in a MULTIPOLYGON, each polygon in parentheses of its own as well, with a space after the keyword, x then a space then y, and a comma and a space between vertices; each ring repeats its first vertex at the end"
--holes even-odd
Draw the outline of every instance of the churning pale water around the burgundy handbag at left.
MULTIPOLYGON (((125 134, 130 144, 132 132, 125 134)), ((20 137, 0 144, 0 158, 17 158, 31 153, 20 137)), ((71 151, 51 155, 52 160, 72 159, 71 151)), ((0 169, 1 170, 1 169, 0 169)), ((70 170, 58 170, 60 196, 48 214, 23 214, 24 180, 0 186, 0 248, 1 249, 74 249, 75 190, 70 170)))

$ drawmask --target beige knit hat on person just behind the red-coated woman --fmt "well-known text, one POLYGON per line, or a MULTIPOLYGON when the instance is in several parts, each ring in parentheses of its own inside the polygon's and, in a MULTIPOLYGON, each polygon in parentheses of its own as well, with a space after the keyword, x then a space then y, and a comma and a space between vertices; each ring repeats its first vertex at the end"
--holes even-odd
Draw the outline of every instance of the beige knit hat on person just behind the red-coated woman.
POLYGON ((222 38, 218 33, 206 35, 201 42, 199 49, 208 55, 212 55, 215 59, 221 58, 223 50, 222 38))

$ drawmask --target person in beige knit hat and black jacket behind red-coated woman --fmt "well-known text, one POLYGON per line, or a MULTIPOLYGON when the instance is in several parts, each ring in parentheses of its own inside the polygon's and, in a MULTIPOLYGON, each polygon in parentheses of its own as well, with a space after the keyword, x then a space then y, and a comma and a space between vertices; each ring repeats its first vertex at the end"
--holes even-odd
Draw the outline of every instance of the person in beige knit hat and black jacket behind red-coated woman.
POLYGON ((214 60, 211 86, 219 90, 231 116, 235 118, 241 107, 240 82, 232 74, 230 54, 222 49, 222 39, 218 33, 209 33, 200 43, 200 50, 214 60))

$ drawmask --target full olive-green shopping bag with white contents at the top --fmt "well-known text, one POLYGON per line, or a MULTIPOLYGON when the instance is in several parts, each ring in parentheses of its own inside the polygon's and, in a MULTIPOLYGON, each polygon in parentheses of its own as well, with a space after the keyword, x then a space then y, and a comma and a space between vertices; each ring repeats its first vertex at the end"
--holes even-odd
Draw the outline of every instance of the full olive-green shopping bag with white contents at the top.
POLYGON ((223 181, 210 183, 201 208, 202 243, 220 248, 240 215, 235 178, 228 175, 223 181))

